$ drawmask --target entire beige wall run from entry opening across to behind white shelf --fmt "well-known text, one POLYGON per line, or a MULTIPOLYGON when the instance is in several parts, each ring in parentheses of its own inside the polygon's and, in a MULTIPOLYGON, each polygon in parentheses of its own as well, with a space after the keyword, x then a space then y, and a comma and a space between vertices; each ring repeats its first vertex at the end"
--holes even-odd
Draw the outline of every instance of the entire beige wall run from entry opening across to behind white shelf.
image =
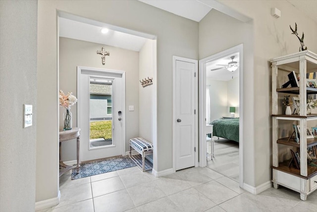
MULTIPOLYGON (((36 200, 57 196, 58 188, 58 71, 56 9, 158 36, 158 161, 157 171, 172 167, 172 56, 202 59, 244 43, 243 80, 245 121, 245 182, 258 186, 271 179, 270 69, 268 59, 298 51, 289 24, 297 22, 305 44, 317 52, 317 25, 287 1, 220 1, 253 18, 250 25, 231 25, 246 33, 227 33, 226 21, 204 18, 198 23, 139 1, 39 1, 38 2, 38 125, 36 200), (270 8, 282 17, 275 19, 270 8), (255 9, 257 8, 257 9, 255 9), (219 23, 219 24, 218 24, 219 23), (253 24, 253 25, 252 25, 253 24), (219 26, 219 27, 218 27, 219 26), (220 30, 221 29, 221 30, 220 30), (221 33, 215 32, 220 30, 221 33), (200 35, 200 36, 199 36, 200 35), (199 45, 198 45, 199 44, 199 45), (198 47, 199 46, 199 47, 198 47), (198 49, 199 57, 198 57, 198 49), (49 50, 49 51, 48 51, 49 50), (254 54, 254 57, 253 57, 254 54), (256 86, 255 86, 256 85, 256 86), (254 108, 261 110, 255 115, 254 108), (262 123, 254 127, 254 123, 262 123), (255 137, 255 132, 257 136, 255 137), (255 156, 256 155, 256 156, 255 156), (51 175, 48 177, 47 167, 51 175)), ((210 17, 210 15, 208 15, 210 17)), ((211 12, 212 16, 212 12, 211 12)))

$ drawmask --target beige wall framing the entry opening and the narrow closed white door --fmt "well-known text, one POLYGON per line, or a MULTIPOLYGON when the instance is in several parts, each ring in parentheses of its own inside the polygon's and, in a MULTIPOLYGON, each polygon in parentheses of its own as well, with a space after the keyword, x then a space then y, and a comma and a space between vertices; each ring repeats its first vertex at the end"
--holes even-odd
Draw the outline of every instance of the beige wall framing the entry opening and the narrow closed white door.
MULTIPOLYGON (((158 37, 155 78, 159 88, 156 94, 159 116, 155 150, 158 159, 154 161, 154 169, 163 171, 172 168, 172 56, 198 59, 198 23, 135 0, 76 2, 42 0, 38 1, 38 4, 38 108, 40 108, 38 115, 40 118, 37 120, 36 201, 55 198, 58 192, 59 87, 56 10, 158 37), (49 177, 48 167, 51 173, 49 177)), ((107 60, 108 58, 106 63, 107 60)), ((138 77, 136 80, 139 83, 138 77)), ((135 113, 138 114, 137 111, 135 113)))

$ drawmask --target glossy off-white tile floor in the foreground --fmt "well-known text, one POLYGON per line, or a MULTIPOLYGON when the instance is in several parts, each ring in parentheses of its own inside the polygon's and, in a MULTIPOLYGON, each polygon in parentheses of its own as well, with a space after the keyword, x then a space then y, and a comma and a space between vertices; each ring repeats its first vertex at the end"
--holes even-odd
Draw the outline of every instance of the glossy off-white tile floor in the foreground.
POLYGON ((138 167, 70 179, 60 177, 59 205, 39 212, 316 212, 317 192, 301 201, 291 190, 252 195, 210 168, 156 178, 138 167))

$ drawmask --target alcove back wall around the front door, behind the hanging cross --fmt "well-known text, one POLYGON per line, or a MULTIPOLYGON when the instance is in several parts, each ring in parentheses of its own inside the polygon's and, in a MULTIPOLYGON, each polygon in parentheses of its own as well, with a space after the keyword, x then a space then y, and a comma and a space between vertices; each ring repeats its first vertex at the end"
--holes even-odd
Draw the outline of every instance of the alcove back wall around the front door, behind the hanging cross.
MULTIPOLYGON (((64 93, 72 91, 77 98, 77 66, 126 71, 126 151, 129 140, 139 135, 139 52, 125 50, 86 41, 60 37, 59 39, 59 89, 64 93), (106 64, 102 64, 97 50, 105 47, 110 52, 106 64), (134 111, 129 111, 134 105, 134 111)), ((59 108, 59 126, 63 127, 62 115, 65 108, 59 108)), ((77 103, 71 107, 73 127, 77 126, 77 103)), ((117 111, 113 111, 116 113, 117 111)), ((81 146, 85 148, 88 146, 81 146)), ((62 143, 63 161, 76 160, 76 139, 62 143)))

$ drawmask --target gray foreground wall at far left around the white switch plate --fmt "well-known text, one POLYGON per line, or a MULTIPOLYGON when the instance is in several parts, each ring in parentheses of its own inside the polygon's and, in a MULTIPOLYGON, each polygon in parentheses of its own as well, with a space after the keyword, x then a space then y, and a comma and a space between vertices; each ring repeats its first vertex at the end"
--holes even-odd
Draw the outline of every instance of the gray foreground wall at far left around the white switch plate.
POLYGON ((38 2, 0 1, 0 211, 35 207, 38 2), (23 104, 33 126, 23 128, 23 104))

